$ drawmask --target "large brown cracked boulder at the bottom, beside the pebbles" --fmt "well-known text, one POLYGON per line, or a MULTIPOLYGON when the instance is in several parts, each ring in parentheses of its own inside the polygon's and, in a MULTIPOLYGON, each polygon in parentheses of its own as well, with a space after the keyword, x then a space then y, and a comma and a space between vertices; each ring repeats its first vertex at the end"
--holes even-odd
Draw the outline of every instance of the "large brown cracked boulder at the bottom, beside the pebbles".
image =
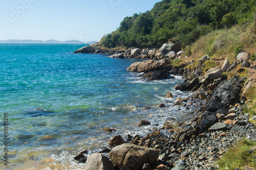
POLYGON ((158 159, 159 151, 124 143, 112 149, 110 159, 123 170, 142 169, 144 163, 152 164, 158 159))

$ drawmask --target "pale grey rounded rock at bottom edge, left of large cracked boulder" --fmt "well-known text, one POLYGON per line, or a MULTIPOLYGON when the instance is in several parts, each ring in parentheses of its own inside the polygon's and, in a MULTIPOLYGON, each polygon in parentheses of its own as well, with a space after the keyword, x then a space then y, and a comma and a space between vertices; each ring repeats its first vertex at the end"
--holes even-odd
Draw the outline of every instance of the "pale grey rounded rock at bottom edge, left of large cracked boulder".
POLYGON ((114 170, 113 163, 102 154, 92 154, 86 161, 86 170, 114 170))

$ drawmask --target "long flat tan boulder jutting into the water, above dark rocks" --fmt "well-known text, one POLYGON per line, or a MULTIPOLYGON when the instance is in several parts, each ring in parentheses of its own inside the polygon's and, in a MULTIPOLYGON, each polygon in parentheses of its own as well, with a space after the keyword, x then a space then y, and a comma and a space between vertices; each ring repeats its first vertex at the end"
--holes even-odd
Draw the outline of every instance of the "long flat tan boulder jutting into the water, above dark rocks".
POLYGON ((159 67, 163 67, 168 64, 170 64, 170 61, 167 59, 163 59, 160 61, 146 60, 146 61, 142 61, 142 62, 133 63, 126 70, 136 71, 136 72, 148 72, 148 71, 154 70, 159 67))

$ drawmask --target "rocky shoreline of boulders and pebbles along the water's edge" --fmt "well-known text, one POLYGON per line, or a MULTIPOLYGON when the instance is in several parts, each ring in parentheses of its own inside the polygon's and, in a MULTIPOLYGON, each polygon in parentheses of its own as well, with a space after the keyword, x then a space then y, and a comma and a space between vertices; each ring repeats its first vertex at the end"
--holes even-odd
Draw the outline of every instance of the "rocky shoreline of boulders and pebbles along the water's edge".
MULTIPOLYGON (((239 72, 243 67, 251 67, 249 53, 240 53, 231 65, 227 59, 220 59, 224 60, 222 67, 210 68, 205 74, 202 68, 209 56, 201 57, 195 68, 185 67, 195 61, 179 66, 170 64, 170 59, 177 60, 184 53, 181 51, 181 42, 163 44, 159 52, 138 48, 103 51, 94 44, 74 53, 104 53, 113 58, 149 58, 150 60, 132 64, 127 70, 143 72, 141 76, 147 81, 172 78, 169 75, 183 76, 184 82, 176 85, 175 89, 194 93, 187 99, 176 99, 174 105, 188 107, 196 100, 205 100, 204 104, 197 104, 189 113, 166 119, 162 128, 152 129, 144 136, 118 135, 108 142, 110 149, 88 158, 83 155, 86 152, 79 153, 74 159, 85 162, 87 170, 216 169, 215 162, 230 145, 236 144, 241 138, 256 141, 256 126, 249 121, 249 114, 243 112, 246 107, 244 94, 256 83, 256 79, 245 82, 238 75, 229 80, 223 76, 223 72, 232 69, 239 72), (241 68, 237 68, 240 63, 241 68)), ((168 92, 166 98, 173 98, 172 93, 168 92)), ((164 107, 164 104, 159 107, 164 107)), ((256 116, 251 118, 254 119, 256 116)), ((147 120, 141 120, 137 126, 149 124, 147 120)))

